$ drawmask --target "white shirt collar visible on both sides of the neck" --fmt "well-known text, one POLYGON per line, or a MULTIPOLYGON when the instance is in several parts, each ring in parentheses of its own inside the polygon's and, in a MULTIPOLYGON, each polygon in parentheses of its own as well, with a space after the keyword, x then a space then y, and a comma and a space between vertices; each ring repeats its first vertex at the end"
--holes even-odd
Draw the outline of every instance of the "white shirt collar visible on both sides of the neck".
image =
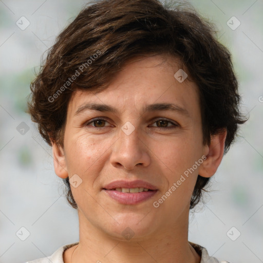
MULTIPOLYGON (((77 245, 79 242, 67 244, 62 247, 60 247, 57 251, 55 251, 51 256, 49 257, 42 257, 39 259, 35 259, 33 261, 27 261, 26 263, 64 263, 63 261, 63 253, 66 249, 73 247, 77 245)), ((219 261, 215 257, 210 257, 208 254, 208 251, 201 247, 200 245, 197 245, 195 243, 189 242, 190 245, 196 250, 196 252, 200 255, 201 261, 200 263, 229 263, 228 261, 219 261)))

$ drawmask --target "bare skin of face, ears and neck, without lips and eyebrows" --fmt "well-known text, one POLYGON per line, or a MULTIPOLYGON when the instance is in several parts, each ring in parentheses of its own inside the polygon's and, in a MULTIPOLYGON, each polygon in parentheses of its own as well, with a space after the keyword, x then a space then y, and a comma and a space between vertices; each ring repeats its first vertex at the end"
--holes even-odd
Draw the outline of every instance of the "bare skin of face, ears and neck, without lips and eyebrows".
POLYGON ((198 88, 187 79, 182 83, 175 79, 179 65, 176 58, 166 55, 133 59, 102 92, 73 93, 64 147, 53 144, 55 173, 61 178, 77 174, 82 179, 78 187, 71 185, 78 204, 79 246, 64 252, 65 263, 200 262, 188 242, 191 195, 198 174, 215 174, 227 132, 211 137, 210 145, 202 144, 198 88), (87 102, 108 104, 119 112, 86 110, 74 116, 87 102), (153 103, 175 103, 189 117, 179 111, 143 111, 153 103), (97 117, 106 121, 88 123, 97 117), (172 122, 164 121, 169 129, 156 120, 160 118, 172 122), (135 127, 130 135, 121 129, 128 121, 135 127), (153 202, 201 156, 206 160, 155 208, 153 202), (139 204, 120 204, 101 191, 117 179, 142 179, 157 186, 158 192, 139 204), (126 228, 134 232, 129 240, 122 235, 126 228))

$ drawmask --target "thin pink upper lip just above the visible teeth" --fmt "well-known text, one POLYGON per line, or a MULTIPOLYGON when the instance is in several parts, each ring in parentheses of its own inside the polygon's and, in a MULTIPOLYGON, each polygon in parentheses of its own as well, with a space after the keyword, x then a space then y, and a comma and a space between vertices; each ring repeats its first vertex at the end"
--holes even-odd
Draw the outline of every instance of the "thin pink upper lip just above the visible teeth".
POLYGON ((113 181, 107 185, 104 186, 104 189, 106 190, 112 190, 115 188, 146 188, 149 190, 157 190, 157 188, 148 182, 145 182, 143 180, 135 180, 135 181, 125 181, 125 180, 118 180, 113 181))

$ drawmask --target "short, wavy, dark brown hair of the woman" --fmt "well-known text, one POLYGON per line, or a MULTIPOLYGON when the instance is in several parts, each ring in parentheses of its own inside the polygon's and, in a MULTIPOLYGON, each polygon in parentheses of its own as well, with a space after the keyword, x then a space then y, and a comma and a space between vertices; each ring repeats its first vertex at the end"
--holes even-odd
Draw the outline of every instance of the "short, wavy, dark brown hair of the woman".
MULTIPOLYGON (((189 5, 157 0, 104 0, 83 7, 57 37, 31 82, 27 112, 51 146, 63 147, 67 105, 74 90, 104 90, 129 59, 157 54, 179 58, 199 88, 203 144, 227 129, 224 154, 234 141, 240 113, 231 54, 214 26, 189 5), (91 63, 89 62, 91 61, 91 63)), ((190 209, 210 178, 198 175, 190 209)), ((73 208, 69 180, 67 200, 73 208)))

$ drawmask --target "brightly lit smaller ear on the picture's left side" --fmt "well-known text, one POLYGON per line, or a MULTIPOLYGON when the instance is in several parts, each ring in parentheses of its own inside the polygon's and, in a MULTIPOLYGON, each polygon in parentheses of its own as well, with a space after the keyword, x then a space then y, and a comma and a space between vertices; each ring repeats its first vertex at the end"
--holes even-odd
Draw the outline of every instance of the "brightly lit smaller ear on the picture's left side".
POLYGON ((52 151, 55 174, 61 178, 67 178, 68 172, 64 149, 61 146, 52 143, 52 151))

